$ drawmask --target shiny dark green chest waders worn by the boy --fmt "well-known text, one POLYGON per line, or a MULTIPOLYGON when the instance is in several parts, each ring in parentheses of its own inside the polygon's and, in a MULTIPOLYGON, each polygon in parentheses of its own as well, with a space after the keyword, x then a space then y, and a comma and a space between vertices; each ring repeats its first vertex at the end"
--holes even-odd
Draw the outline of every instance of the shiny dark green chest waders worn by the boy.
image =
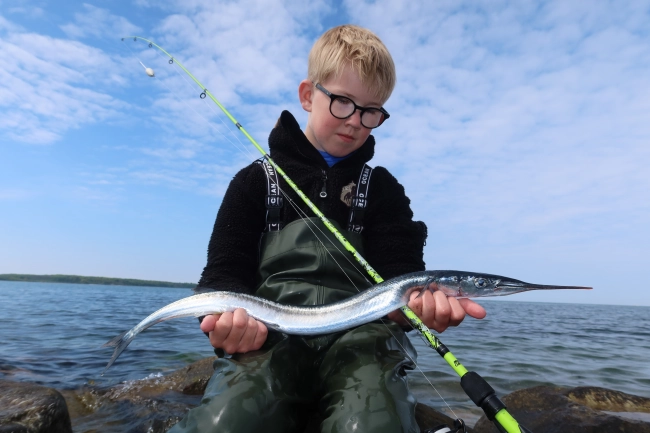
MULTIPOLYGON (((344 233, 363 254, 360 234, 344 233)), ((260 251, 256 296, 317 305, 371 285, 317 218, 265 233, 260 251)), ((315 417, 323 433, 419 432, 406 377, 415 349, 384 322, 314 337, 270 332, 260 350, 217 359, 201 405, 170 432, 302 433, 315 417)))

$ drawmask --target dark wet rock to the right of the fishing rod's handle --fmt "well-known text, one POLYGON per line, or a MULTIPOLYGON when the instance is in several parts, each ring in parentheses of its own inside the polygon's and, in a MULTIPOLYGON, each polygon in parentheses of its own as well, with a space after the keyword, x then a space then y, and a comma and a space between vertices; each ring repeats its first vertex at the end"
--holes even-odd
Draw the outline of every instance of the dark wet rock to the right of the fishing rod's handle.
MULTIPOLYGON (((650 433, 650 399, 605 388, 538 386, 508 394, 503 402, 534 433, 650 433)), ((483 416, 474 431, 497 430, 483 416)))

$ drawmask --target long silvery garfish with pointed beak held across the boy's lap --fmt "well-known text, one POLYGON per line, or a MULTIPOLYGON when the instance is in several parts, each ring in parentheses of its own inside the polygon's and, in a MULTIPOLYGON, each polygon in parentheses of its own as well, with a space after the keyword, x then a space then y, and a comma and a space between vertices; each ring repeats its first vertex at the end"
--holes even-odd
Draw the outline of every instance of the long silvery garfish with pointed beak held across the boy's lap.
POLYGON ((210 291, 173 302, 104 344, 103 347, 115 347, 104 372, 140 332, 156 323, 180 317, 200 317, 243 308, 249 316, 263 322, 269 329, 292 335, 319 335, 377 320, 406 305, 413 292, 430 290, 441 291, 454 298, 481 298, 555 289, 591 287, 530 284, 477 272, 421 271, 386 280, 358 295, 328 305, 284 305, 244 293, 210 291))

